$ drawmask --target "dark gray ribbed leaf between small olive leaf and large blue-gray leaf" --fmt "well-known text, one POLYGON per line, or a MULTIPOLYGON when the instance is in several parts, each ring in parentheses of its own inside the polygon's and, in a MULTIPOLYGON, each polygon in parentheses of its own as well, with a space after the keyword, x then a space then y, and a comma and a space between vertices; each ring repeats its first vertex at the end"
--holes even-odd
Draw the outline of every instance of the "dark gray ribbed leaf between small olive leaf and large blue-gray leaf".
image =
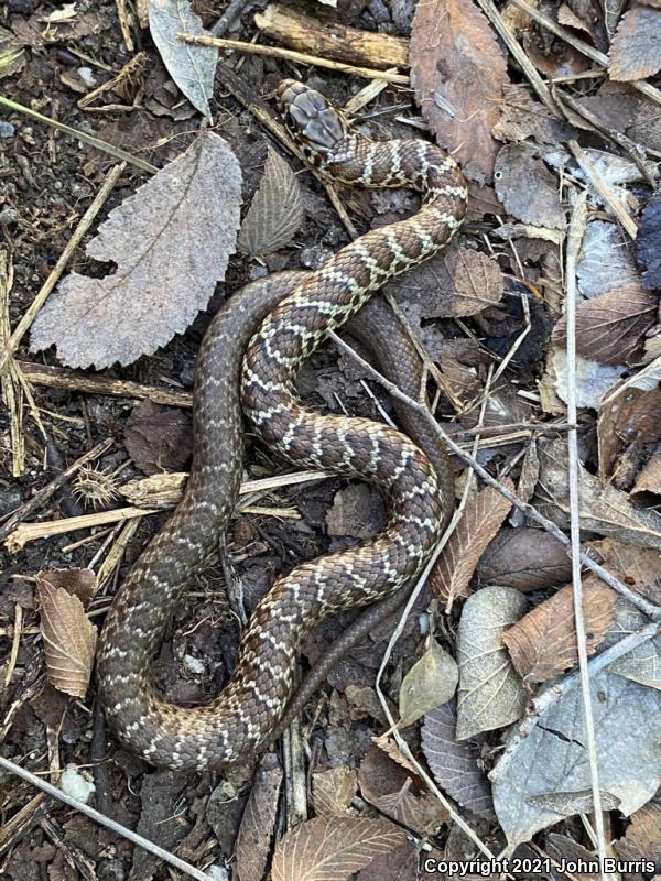
POLYGON ((477 765, 476 747, 455 740, 456 721, 454 700, 427 713, 422 725, 422 751, 441 788, 462 807, 490 817, 494 806, 489 782, 477 765))

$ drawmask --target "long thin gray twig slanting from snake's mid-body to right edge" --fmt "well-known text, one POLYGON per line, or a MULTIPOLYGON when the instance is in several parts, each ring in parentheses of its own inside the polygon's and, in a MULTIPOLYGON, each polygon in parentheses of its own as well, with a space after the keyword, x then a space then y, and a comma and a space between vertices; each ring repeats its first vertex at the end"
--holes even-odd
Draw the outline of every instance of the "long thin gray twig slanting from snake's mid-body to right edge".
MULTIPOLYGON (((432 431, 436 432, 447 448, 452 450, 452 453, 454 453, 454 455, 457 456, 462 461, 466 463, 466 465, 469 465, 470 468, 473 468, 473 470, 485 481, 485 483, 487 483, 489 487, 494 487, 494 489, 503 496, 509 502, 511 502, 514 508, 517 508, 519 511, 522 511, 531 520, 534 520, 535 523, 539 523, 542 529, 553 535, 553 537, 556 539, 562 545, 570 547, 570 540, 564 532, 556 526, 555 523, 553 523, 553 521, 545 518, 532 504, 522 502, 507 487, 502 486, 502 483, 496 480, 495 477, 491 477, 491 475, 485 468, 483 468, 483 466, 476 461, 473 456, 465 453, 462 447, 458 446, 458 444, 455 444, 455 442, 438 425, 432 413, 429 412, 424 404, 421 404, 413 398, 409 398, 409 395, 404 394, 394 383, 389 382, 386 377, 379 373, 378 370, 375 370, 375 368, 368 361, 366 361, 365 358, 361 358, 358 352, 356 352, 350 346, 340 339, 335 331, 328 331, 327 336, 335 341, 336 346, 339 346, 343 351, 345 351, 350 358, 359 363, 364 370, 370 373, 393 398, 398 398, 408 406, 422 413, 424 418, 429 422, 432 431)), ((620 580, 618 580, 611 573, 608 572, 608 569, 605 569, 603 566, 596 563, 583 547, 581 548, 581 562, 588 569, 596 573, 603 581, 609 585, 609 587, 611 587, 614 590, 617 590, 618 594, 621 594, 622 597, 628 599, 638 609, 644 612, 648 618, 651 618, 654 621, 661 620, 661 609, 658 606, 649 602, 644 599, 644 597, 639 596, 620 580)))

